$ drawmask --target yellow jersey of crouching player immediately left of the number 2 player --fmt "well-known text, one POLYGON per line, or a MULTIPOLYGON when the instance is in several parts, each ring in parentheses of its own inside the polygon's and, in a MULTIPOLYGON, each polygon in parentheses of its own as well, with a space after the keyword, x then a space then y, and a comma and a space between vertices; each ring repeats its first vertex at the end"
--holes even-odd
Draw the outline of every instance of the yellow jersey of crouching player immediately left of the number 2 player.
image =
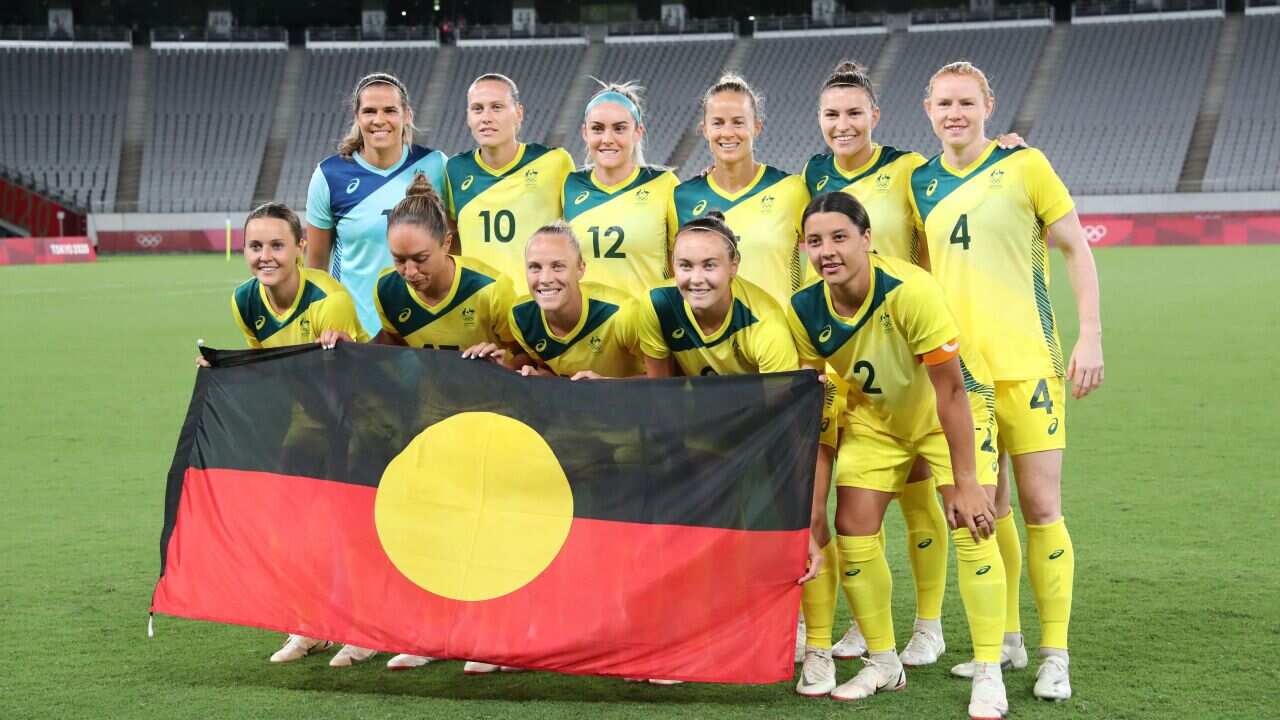
POLYGON ((783 373, 800 366, 786 316, 769 293, 733 279, 733 305, 724 323, 704 333, 694 311, 672 284, 649 291, 640 301, 636 328, 640 348, 662 360, 675 355, 686 375, 783 373))

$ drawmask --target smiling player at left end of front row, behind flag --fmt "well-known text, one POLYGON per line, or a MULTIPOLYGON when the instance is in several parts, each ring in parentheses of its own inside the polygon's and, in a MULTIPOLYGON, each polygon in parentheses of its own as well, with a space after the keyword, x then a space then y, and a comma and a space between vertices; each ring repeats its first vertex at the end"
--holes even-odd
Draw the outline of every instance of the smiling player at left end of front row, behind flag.
MULTIPOLYGON (((332 347, 339 336, 366 342, 369 336, 356 316, 351 295, 326 273, 303 269, 301 260, 302 223, 293 210, 280 202, 255 208, 244 220, 244 261, 253 278, 232 293, 232 318, 248 346, 320 342, 332 347)), ((204 359, 197 363, 207 365, 204 359)), ((301 407, 294 416, 301 423, 297 427, 307 424, 301 407)), ((292 443, 287 439, 285 445, 292 443)), ((306 635, 289 635, 284 647, 271 655, 271 662, 291 662, 332 644, 306 635)), ((353 648, 348 656, 364 652, 364 648, 347 647, 353 648)))

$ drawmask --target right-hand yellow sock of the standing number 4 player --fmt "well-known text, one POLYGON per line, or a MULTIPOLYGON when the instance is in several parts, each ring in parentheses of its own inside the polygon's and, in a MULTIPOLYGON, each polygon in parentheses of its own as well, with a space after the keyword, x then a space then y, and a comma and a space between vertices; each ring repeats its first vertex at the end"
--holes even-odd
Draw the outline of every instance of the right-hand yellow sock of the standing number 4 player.
POLYGON ((1027 574, 1041 616, 1041 647, 1066 650, 1075 550, 1065 519, 1059 518, 1048 525, 1027 525, 1027 574))

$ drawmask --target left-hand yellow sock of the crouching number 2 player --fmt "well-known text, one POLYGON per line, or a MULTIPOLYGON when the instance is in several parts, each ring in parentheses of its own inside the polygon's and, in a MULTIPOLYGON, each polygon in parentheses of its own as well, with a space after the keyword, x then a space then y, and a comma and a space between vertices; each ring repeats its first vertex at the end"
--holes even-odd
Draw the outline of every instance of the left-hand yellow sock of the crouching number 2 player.
POLYGON ((840 584, 852 600, 854 618, 867 638, 868 651, 895 651, 893 577, 884 560, 884 548, 877 536, 838 536, 836 542, 842 570, 840 584))

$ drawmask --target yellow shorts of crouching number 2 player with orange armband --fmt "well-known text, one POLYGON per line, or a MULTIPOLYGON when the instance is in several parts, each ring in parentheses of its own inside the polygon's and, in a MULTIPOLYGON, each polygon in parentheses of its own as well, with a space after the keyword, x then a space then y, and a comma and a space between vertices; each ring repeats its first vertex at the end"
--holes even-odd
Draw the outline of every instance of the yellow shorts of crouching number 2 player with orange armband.
MULTIPOLYGON (((978 484, 995 486, 997 430, 987 423, 974 428, 974 460, 978 484)), ((901 493, 916 457, 924 457, 940 486, 955 484, 951 450, 942 430, 910 442, 864 423, 851 423, 840 434, 836 487, 854 487, 901 493)))

